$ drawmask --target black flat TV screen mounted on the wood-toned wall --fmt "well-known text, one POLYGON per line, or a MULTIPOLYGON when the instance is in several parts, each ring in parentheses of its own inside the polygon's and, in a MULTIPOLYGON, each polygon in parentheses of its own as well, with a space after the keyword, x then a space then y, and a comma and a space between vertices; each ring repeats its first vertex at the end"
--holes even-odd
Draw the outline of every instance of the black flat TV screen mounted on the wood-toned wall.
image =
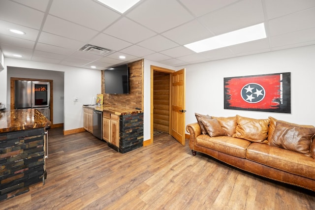
POLYGON ((129 93, 129 77, 128 65, 123 64, 108 68, 104 71, 105 77, 105 93, 109 94, 128 94, 129 93))

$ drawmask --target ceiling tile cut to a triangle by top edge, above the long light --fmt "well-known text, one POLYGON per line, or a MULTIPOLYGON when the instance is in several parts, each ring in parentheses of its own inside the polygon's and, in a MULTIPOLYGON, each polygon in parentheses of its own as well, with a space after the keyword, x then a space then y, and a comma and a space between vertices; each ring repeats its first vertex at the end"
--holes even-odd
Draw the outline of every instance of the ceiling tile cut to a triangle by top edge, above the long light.
POLYGON ((196 17, 207 14, 238 0, 180 0, 196 17))

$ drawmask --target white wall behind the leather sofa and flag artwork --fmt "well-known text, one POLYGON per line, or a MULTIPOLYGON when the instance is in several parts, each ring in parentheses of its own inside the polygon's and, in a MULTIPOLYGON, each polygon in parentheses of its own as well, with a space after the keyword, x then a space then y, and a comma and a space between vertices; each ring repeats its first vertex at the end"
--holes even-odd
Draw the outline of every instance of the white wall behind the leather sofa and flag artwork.
MULTIPOLYGON (((194 113, 276 119, 315 125, 315 45, 182 66, 186 68, 186 125, 194 113), (223 109, 223 78, 291 72, 291 114, 223 109)), ((180 68, 178 68, 180 69, 180 68)))

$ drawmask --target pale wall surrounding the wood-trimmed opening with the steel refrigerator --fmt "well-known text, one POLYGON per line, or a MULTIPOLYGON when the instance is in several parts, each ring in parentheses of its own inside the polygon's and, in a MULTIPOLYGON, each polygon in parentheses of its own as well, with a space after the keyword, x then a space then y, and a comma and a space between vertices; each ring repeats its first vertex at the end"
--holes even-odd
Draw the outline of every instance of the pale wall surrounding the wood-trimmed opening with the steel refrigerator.
POLYGON ((30 78, 53 80, 54 96, 54 124, 63 123, 63 73, 62 71, 48 71, 42 69, 20 68, 7 66, 7 104, 10 107, 10 78, 30 78))

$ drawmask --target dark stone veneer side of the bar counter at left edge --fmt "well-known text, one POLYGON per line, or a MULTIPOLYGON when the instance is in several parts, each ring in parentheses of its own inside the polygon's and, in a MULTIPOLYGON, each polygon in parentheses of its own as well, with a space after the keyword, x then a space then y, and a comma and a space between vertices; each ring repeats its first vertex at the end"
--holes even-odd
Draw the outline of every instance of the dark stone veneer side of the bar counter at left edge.
POLYGON ((0 133, 0 201, 43 181, 44 128, 0 133))

